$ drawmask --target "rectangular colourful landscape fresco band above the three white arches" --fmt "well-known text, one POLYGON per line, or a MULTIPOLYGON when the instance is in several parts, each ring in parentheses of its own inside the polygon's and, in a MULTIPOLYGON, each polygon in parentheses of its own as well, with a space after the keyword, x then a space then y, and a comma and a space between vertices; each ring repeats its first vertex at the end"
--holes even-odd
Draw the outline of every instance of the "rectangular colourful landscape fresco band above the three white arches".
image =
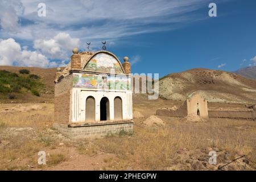
POLYGON ((110 90, 131 90, 131 78, 126 76, 77 74, 73 75, 73 87, 110 90))

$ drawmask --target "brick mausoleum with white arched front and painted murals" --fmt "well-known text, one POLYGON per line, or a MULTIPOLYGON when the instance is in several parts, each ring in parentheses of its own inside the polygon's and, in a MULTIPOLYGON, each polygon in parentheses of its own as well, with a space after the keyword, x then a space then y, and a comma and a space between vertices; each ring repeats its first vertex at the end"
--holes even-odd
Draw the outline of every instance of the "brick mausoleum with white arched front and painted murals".
POLYGON ((54 127, 71 138, 133 131, 131 65, 108 51, 79 52, 55 78, 54 127))

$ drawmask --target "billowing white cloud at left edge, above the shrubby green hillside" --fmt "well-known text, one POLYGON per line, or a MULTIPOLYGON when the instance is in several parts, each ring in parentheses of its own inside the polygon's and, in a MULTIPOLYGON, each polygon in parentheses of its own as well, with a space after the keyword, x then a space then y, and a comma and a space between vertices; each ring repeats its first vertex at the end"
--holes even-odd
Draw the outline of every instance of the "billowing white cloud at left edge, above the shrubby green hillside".
POLYGON ((24 67, 56 67, 46 56, 36 51, 22 49, 14 39, 0 39, 0 65, 20 65, 24 67))

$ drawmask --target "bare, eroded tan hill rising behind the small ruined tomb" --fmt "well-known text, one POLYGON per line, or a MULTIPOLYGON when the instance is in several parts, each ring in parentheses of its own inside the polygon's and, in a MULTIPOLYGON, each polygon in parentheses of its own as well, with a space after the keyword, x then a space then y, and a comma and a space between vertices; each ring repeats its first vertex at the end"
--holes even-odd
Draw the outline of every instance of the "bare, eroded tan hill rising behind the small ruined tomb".
POLYGON ((256 102, 256 80, 235 73, 211 69, 191 69, 160 79, 159 95, 169 100, 185 100, 192 92, 210 102, 256 102))

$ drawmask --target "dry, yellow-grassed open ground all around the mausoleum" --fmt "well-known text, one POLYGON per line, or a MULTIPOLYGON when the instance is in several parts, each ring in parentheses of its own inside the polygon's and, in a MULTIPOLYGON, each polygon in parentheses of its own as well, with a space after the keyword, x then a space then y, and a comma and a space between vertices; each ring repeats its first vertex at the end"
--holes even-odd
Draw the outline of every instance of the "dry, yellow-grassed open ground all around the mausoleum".
MULTIPOLYGON (((247 159, 222 169, 256 169, 255 121, 210 118, 184 122, 154 115, 159 107, 181 104, 135 96, 133 133, 80 140, 71 140, 52 128, 53 104, 1 104, 0 169, 217 170, 242 155, 247 159), (46 151, 46 165, 38 164, 39 151, 46 151), (209 164, 209 151, 217 152, 216 165, 209 164)), ((219 107, 243 105, 209 103, 210 109, 219 107)))

